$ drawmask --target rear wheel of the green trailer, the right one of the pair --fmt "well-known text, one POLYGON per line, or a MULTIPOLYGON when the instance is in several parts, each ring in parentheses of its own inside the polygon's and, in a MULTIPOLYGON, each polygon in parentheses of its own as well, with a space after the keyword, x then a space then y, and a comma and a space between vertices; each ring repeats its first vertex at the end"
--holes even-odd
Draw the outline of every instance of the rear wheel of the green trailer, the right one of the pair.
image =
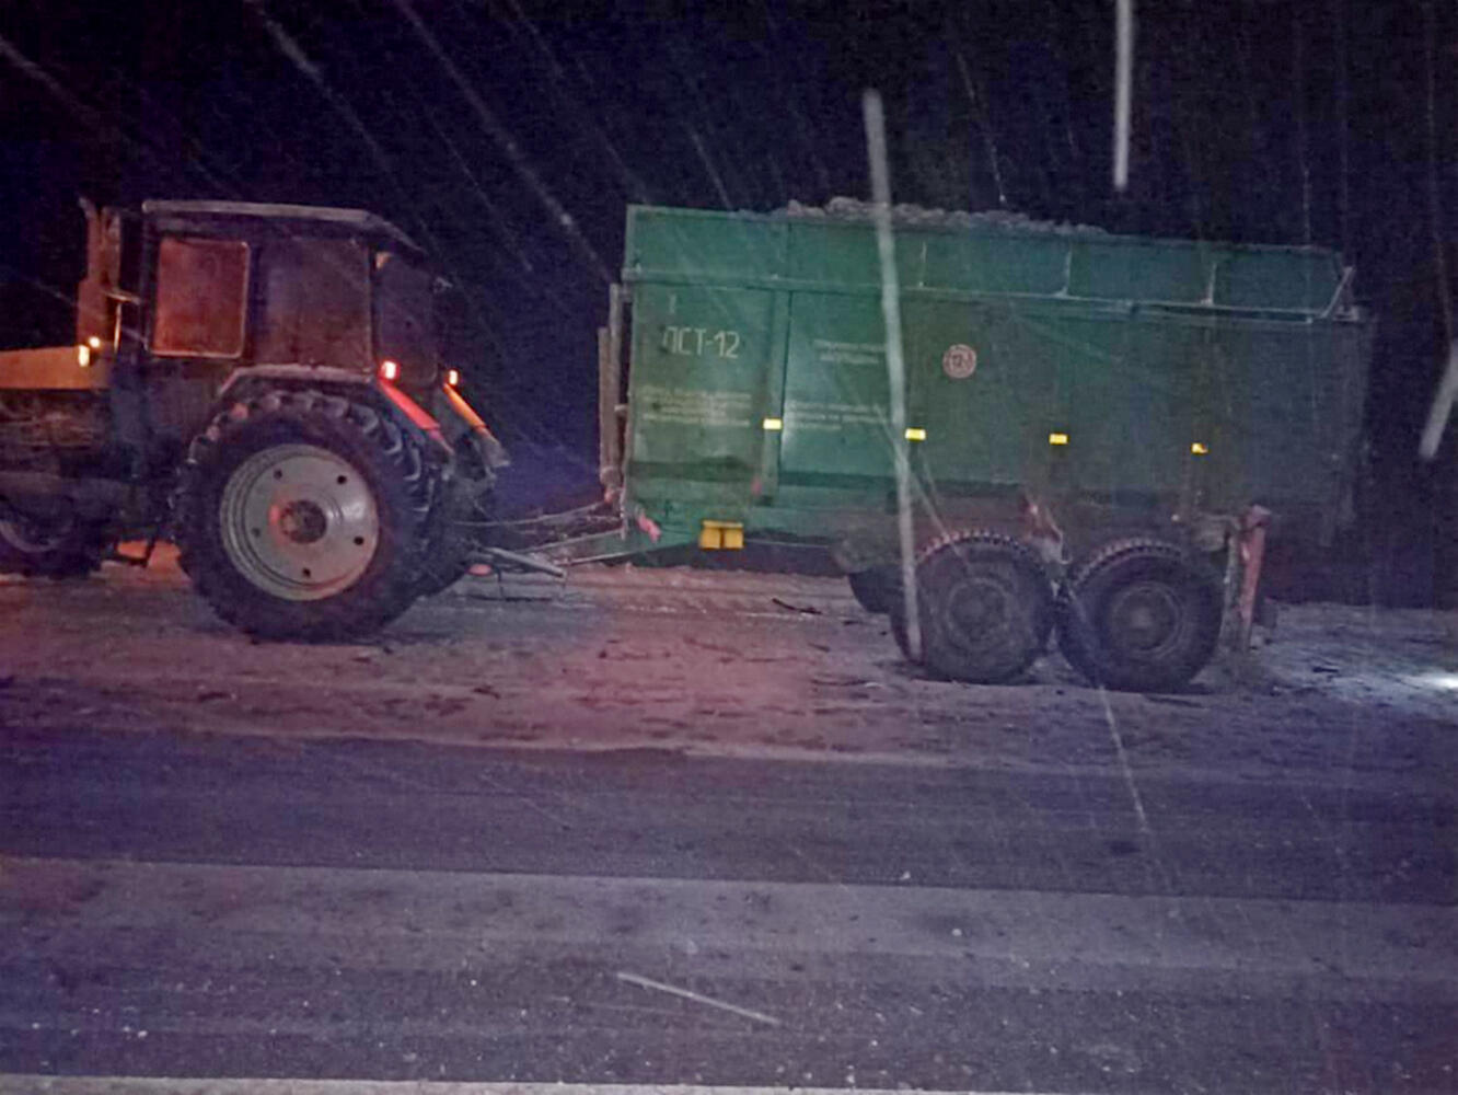
POLYGON ((1115 541, 1059 598, 1059 647, 1094 684, 1180 688, 1215 656, 1220 599, 1220 580, 1178 545, 1115 541))

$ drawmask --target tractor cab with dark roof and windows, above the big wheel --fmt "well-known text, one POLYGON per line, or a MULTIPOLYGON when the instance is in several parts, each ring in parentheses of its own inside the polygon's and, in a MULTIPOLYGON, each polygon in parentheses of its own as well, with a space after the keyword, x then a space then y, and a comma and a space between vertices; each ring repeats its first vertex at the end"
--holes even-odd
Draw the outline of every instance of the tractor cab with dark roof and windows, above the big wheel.
POLYGON ((87 220, 79 353, 143 382, 156 443, 185 437, 239 369, 379 373, 432 401, 436 278, 394 225, 241 201, 87 209, 87 220))

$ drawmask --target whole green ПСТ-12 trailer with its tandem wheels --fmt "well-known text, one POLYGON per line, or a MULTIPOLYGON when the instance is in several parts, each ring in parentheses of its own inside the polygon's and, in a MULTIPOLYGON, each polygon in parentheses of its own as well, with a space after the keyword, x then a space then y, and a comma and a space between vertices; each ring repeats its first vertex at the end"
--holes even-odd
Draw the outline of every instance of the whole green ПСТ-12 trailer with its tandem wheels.
POLYGON ((1098 681, 1188 679, 1261 515, 1328 541, 1347 512, 1371 347, 1352 271, 1319 248, 962 217, 895 227, 903 439, 869 220, 631 207, 599 340, 623 523, 547 554, 812 539, 897 609, 904 442, 911 653, 1006 679, 1057 626, 1098 681))

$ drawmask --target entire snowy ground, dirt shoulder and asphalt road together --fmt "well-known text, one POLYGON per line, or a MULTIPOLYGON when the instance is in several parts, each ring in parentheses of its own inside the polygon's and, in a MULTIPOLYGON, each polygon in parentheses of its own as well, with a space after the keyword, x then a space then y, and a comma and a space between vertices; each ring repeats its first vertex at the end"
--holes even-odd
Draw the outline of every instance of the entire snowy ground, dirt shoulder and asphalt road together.
POLYGON ((1105 695, 805 576, 0 582, 0 1095, 1454 1092, 1455 623, 1105 695))

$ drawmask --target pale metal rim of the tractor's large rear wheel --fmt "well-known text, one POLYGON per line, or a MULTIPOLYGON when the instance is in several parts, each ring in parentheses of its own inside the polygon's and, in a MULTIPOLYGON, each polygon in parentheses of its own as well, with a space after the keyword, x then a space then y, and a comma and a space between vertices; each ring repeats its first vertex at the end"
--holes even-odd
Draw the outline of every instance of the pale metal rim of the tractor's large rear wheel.
POLYGON ((229 475, 223 548, 258 589, 319 601, 348 589, 379 547, 375 493, 359 469, 315 445, 278 445, 229 475))

